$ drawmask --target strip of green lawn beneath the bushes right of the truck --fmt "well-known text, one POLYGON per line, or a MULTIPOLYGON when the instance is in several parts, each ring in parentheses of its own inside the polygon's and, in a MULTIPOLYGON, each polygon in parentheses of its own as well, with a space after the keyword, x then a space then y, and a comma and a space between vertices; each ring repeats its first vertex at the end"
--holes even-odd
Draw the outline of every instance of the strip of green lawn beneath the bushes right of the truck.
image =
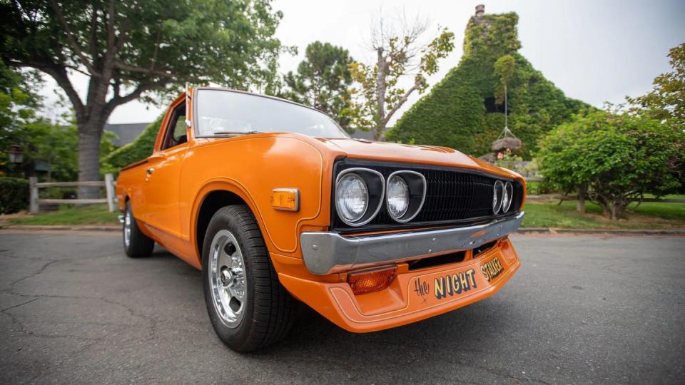
MULTIPOLYGON (((684 199, 685 195, 669 195, 665 198, 684 199)), ((642 203, 627 219, 608 220, 602 209, 586 202, 587 214, 576 211, 575 201, 557 205, 553 202, 526 202, 526 216, 522 227, 557 227, 567 229, 673 229, 685 228, 685 203, 642 203)), ((632 204, 631 207, 634 207, 632 204)))

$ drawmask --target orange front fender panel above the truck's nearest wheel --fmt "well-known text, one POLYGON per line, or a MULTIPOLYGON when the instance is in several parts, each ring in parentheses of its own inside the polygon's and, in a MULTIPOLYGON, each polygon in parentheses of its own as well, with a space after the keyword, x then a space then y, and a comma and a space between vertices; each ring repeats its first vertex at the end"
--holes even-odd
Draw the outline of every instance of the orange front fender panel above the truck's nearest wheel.
POLYGON ((193 243, 201 202, 214 190, 240 196, 255 215, 269 250, 284 255, 301 257, 299 234, 303 229, 328 226, 331 177, 327 170, 331 166, 308 140, 250 135, 201 143, 190 151, 181 173, 181 202, 193 203, 187 210, 188 220, 182 217, 181 222, 188 224, 182 231, 193 243), (187 188, 192 185, 196 188, 187 188), (275 188, 297 188, 300 210, 275 210, 271 206, 275 188))

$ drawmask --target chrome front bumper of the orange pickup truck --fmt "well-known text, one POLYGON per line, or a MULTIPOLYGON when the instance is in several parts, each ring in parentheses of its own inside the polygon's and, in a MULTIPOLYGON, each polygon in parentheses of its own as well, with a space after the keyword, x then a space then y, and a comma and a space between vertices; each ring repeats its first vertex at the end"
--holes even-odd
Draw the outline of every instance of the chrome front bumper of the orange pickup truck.
POLYGON ((337 232, 303 232, 300 245, 310 272, 331 274, 475 249, 516 231, 523 215, 524 212, 520 212, 515 217, 493 220, 484 225, 364 237, 343 237, 337 232))

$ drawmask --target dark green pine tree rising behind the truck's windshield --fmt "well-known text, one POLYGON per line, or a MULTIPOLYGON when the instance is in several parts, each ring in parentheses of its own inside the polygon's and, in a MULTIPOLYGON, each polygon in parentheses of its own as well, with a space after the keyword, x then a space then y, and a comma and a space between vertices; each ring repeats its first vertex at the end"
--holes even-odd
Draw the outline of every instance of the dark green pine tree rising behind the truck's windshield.
POLYGON ((343 111, 350 105, 352 76, 348 66, 352 61, 345 48, 320 41, 310 43, 298 71, 283 76, 287 88, 280 96, 328 113, 348 130, 350 118, 343 111))

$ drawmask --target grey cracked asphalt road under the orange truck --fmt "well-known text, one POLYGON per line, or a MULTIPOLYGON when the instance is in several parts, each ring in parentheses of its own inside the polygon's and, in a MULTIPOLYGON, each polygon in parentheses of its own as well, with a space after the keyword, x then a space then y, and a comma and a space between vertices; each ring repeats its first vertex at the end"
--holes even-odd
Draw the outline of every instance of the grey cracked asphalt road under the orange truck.
POLYGON ((200 273, 118 233, 0 231, 0 382, 684 383, 685 238, 515 236, 498 294, 417 324, 345 332, 304 312, 235 354, 200 273))

